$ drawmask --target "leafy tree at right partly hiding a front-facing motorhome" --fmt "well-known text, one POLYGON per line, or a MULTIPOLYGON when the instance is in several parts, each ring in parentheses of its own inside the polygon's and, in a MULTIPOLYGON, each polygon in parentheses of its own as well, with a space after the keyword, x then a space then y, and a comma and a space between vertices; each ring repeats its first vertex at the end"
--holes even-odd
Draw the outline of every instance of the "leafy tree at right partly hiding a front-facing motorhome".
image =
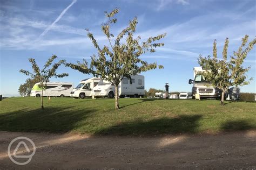
POLYGON ((228 38, 225 40, 222 52, 223 59, 220 60, 217 57, 216 40, 213 42, 213 58, 211 58, 211 56, 199 56, 198 62, 200 66, 206 69, 206 72, 203 73, 206 80, 212 82, 213 87, 222 90, 221 105, 224 105, 224 95, 229 87, 244 86, 249 84, 252 80, 252 77, 246 80, 246 73, 251 67, 242 67, 242 63, 247 54, 253 49, 256 43, 256 39, 248 42, 248 38, 249 36, 247 35, 242 38, 241 46, 238 48, 237 52, 233 52, 233 56, 230 57, 230 60, 227 59, 228 38))

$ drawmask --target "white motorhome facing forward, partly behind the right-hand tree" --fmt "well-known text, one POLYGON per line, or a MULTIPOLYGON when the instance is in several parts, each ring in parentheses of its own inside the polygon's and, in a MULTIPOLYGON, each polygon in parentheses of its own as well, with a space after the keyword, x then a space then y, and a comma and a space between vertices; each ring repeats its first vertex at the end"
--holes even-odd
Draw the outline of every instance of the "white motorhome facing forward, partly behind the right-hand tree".
POLYGON ((189 84, 193 83, 192 98, 194 99, 196 94, 199 94, 200 97, 220 98, 222 91, 212 87, 211 82, 206 81, 202 72, 205 72, 202 67, 194 67, 194 79, 188 81, 189 84))

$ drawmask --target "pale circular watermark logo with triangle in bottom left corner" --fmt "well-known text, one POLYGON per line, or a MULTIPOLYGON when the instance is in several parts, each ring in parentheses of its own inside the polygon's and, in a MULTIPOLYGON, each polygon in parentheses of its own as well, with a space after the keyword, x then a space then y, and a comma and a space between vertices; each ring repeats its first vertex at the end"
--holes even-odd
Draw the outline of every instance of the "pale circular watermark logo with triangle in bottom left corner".
POLYGON ((9 158, 11 159, 12 162, 14 162, 14 164, 17 164, 17 165, 26 165, 26 164, 29 164, 29 162, 31 161, 33 155, 36 153, 36 145, 35 143, 33 143, 33 141, 27 137, 17 137, 15 139, 13 139, 9 146, 8 146, 8 155, 9 155, 9 158), (17 146, 15 147, 15 150, 11 153, 11 146, 12 144, 15 143, 15 141, 17 140, 21 140, 19 141, 19 143, 17 144, 17 146), (31 146, 33 147, 33 150, 30 151, 29 147, 28 146, 31 146), (30 155, 17 155, 17 151, 19 149, 19 147, 24 147, 26 152, 28 153, 31 153, 30 155), (23 160, 22 162, 19 162, 18 160, 15 160, 16 159, 19 159, 19 158, 22 158, 22 159, 19 159, 20 160, 23 160), (24 161, 26 160, 26 161, 24 161))

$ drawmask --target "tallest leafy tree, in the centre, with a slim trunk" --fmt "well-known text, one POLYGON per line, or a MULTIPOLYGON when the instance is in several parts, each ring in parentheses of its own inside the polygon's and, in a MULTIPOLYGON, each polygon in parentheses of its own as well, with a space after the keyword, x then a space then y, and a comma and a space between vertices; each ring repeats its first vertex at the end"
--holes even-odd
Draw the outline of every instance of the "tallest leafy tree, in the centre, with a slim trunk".
POLYGON ((115 86, 115 108, 119 109, 118 104, 118 84, 124 77, 127 77, 131 81, 131 75, 140 74, 147 70, 163 68, 161 65, 154 63, 147 63, 139 58, 140 55, 146 52, 156 52, 155 48, 164 46, 163 43, 155 42, 161 38, 164 38, 166 34, 161 34, 156 37, 150 37, 146 41, 140 43, 140 36, 134 38, 134 32, 136 31, 137 18, 134 17, 129 26, 121 31, 116 39, 113 41, 114 35, 110 33, 110 26, 117 22, 114 16, 119 12, 118 9, 114 9, 112 12, 105 15, 108 19, 106 23, 102 24, 102 31, 105 34, 108 44, 100 48, 97 40, 93 34, 86 29, 87 36, 91 39, 92 44, 97 49, 98 54, 91 56, 90 67, 86 60, 83 63, 78 62, 76 64, 66 63, 66 66, 78 70, 79 72, 89 74, 92 73, 96 76, 101 76, 103 79, 110 81, 115 86), (123 40, 125 38, 125 40, 123 40))

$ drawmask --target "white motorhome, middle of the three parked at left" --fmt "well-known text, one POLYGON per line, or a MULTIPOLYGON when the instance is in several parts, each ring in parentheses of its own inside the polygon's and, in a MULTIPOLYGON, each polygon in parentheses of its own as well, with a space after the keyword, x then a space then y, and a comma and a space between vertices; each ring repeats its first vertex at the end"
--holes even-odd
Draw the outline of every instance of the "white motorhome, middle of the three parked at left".
POLYGON ((81 80, 77 87, 71 91, 70 97, 85 98, 92 96, 93 88, 97 86, 100 80, 102 79, 96 77, 81 80))

